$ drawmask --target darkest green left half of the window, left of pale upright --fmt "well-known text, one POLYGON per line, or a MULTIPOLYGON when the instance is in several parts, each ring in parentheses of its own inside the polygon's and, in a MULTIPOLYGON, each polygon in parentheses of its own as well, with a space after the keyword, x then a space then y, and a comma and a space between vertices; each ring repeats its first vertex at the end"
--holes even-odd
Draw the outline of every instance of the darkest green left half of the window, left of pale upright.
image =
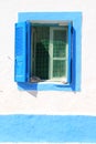
POLYGON ((35 35, 34 75, 46 80, 49 79, 50 27, 35 27, 35 35))

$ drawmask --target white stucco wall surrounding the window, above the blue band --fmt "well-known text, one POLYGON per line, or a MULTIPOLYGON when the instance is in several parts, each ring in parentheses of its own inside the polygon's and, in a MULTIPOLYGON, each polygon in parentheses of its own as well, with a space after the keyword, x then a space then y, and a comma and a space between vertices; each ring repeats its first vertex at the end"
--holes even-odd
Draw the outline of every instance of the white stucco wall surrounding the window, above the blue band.
POLYGON ((0 114, 96 115, 96 6, 95 0, 1 0, 0 1, 0 114), (54 6, 55 3, 55 6, 54 6), (18 12, 81 11, 82 91, 26 92, 13 82, 14 23, 18 12))

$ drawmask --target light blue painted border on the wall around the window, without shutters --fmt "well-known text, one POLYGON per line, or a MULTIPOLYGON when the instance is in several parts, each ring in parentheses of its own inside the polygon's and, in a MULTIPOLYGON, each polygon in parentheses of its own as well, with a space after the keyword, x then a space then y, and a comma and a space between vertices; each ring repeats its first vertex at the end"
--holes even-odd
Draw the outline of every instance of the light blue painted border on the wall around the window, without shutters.
POLYGON ((81 91, 81 62, 82 62, 82 12, 20 12, 19 22, 29 20, 63 20, 73 21, 73 61, 72 83, 18 83, 20 90, 35 91, 81 91))

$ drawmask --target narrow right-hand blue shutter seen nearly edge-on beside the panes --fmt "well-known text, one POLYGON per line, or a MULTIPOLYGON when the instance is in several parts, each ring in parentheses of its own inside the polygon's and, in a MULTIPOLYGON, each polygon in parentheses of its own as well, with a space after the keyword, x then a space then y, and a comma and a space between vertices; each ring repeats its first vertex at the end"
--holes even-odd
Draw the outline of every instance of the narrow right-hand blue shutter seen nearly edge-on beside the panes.
POLYGON ((71 75, 72 75, 72 69, 71 69, 71 59, 72 59, 72 23, 68 23, 68 61, 67 61, 67 83, 71 83, 71 75))

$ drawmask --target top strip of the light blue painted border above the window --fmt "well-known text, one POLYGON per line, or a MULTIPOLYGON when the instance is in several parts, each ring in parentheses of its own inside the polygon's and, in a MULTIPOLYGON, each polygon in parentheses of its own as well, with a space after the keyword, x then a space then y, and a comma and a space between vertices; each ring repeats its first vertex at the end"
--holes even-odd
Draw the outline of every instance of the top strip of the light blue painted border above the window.
MULTIPOLYGON (((19 12, 19 22, 29 20, 76 20, 82 12, 19 12)), ((78 20, 79 21, 79 20, 78 20)))

